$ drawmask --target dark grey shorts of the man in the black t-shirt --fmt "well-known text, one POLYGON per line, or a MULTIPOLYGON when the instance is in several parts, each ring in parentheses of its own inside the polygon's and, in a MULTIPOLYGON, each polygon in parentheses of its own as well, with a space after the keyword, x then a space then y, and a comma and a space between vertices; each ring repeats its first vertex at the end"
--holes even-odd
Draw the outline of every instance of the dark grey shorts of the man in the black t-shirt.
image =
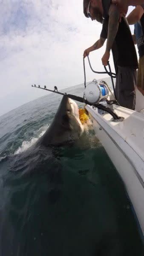
POLYGON ((131 67, 118 66, 115 93, 122 107, 135 109, 135 88, 136 70, 131 67))

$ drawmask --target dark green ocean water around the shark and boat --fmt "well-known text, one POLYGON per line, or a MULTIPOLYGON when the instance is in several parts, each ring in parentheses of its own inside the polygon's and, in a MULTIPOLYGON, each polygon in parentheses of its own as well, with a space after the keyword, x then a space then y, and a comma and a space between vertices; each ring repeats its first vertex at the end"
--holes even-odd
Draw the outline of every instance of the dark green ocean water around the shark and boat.
MULTIPOLYGON (((84 87, 64 91, 83 96, 84 87)), ((0 116, 0 256, 144 255, 124 184, 94 131, 81 145, 31 148, 61 99, 49 94, 0 116)))

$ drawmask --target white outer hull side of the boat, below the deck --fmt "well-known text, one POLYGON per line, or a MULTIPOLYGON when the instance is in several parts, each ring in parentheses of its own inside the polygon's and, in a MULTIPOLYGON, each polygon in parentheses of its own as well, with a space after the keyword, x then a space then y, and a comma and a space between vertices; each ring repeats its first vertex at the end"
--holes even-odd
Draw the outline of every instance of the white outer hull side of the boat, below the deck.
MULTIPOLYGON (((109 158, 124 181, 144 238, 144 180, 141 175, 144 171, 143 159, 122 138, 118 129, 112 126, 112 122, 109 121, 111 117, 106 117, 109 114, 100 115, 97 109, 92 109, 89 105, 86 105, 86 110, 92 120, 96 137, 104 146, 109 158), (137 163, 135 164, 135 162, 137 163)), ((118 111, 118 114, 120 111, 118 111)), ((121 112, 122 115, 124 115, 124 111, 121 112)))

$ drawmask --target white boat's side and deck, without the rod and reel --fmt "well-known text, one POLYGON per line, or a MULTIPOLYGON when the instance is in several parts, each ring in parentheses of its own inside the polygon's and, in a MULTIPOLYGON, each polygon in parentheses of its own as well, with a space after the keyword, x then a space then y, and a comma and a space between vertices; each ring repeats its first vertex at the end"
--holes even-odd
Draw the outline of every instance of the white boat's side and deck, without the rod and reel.
POLYGON ((114 120, 111 114, 90 105, 85 108, 96 137, 124 181, 144 238, 144 110, 112 106, 122 119, 114 120))

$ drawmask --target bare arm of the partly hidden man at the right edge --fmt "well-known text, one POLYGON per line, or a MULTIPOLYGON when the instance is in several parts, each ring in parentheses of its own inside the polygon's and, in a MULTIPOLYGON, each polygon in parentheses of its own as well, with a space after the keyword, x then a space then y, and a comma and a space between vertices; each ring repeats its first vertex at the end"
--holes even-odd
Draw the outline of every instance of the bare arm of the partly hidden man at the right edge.
POLYGON ((127 16, 127 22, 129 25, 133 25, 141 19, 144 14, 144 9, 141 6, 136 6, 136 8, 127 16))

